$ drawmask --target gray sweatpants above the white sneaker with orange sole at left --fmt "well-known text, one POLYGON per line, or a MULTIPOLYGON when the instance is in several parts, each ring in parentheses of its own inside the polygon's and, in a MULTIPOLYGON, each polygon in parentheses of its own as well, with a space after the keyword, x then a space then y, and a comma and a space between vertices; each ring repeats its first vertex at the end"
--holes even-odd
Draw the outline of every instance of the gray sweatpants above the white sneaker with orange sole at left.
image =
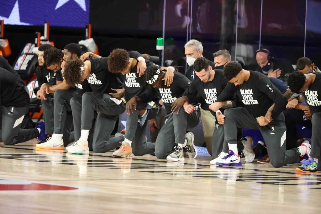
POLYGON ((63 134, 66 146, 70 131, 73 126, 73 115, 71 112, 70 99, 77 95, 74 90, 57 90, 54 94, 54 132, 63 134))

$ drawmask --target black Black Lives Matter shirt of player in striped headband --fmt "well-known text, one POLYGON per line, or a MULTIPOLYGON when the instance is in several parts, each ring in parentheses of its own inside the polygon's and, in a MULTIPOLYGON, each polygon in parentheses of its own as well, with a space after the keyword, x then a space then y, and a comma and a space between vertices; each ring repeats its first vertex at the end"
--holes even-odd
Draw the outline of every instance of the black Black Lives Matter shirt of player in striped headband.
POLYGON ((159 89, 148 87, 149 91, 145 91, 143 94, 139 95, 141 102, 149 102, 151 97, 154 97, 155 93, 164 102, 166 112, 169 114, 171 112, 172 103, 179 97, 190 86, 191 82, 181 73, 174 72, 174 80, 170 86, 163 85, 159 89))

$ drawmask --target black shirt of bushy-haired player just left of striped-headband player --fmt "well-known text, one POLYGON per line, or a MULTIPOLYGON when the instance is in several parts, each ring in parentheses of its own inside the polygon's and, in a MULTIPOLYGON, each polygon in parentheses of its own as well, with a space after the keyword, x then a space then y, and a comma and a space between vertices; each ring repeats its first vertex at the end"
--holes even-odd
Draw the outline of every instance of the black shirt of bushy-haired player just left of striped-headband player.
MULTIPOLYGON (((153 62, 145 59, 146 65, 151 66, 155 65, 153 62)), ((125 100, 128 101, 131 98, 138 96, 139 94, 142 94, 145 90, 146 82, 144 81, 144 76, 139 77, 139 74, 137 74, 137 64, 133 69, 130 70, 129 74, 121 75, 121 80, 124 83, 125 86, 125 100)))

